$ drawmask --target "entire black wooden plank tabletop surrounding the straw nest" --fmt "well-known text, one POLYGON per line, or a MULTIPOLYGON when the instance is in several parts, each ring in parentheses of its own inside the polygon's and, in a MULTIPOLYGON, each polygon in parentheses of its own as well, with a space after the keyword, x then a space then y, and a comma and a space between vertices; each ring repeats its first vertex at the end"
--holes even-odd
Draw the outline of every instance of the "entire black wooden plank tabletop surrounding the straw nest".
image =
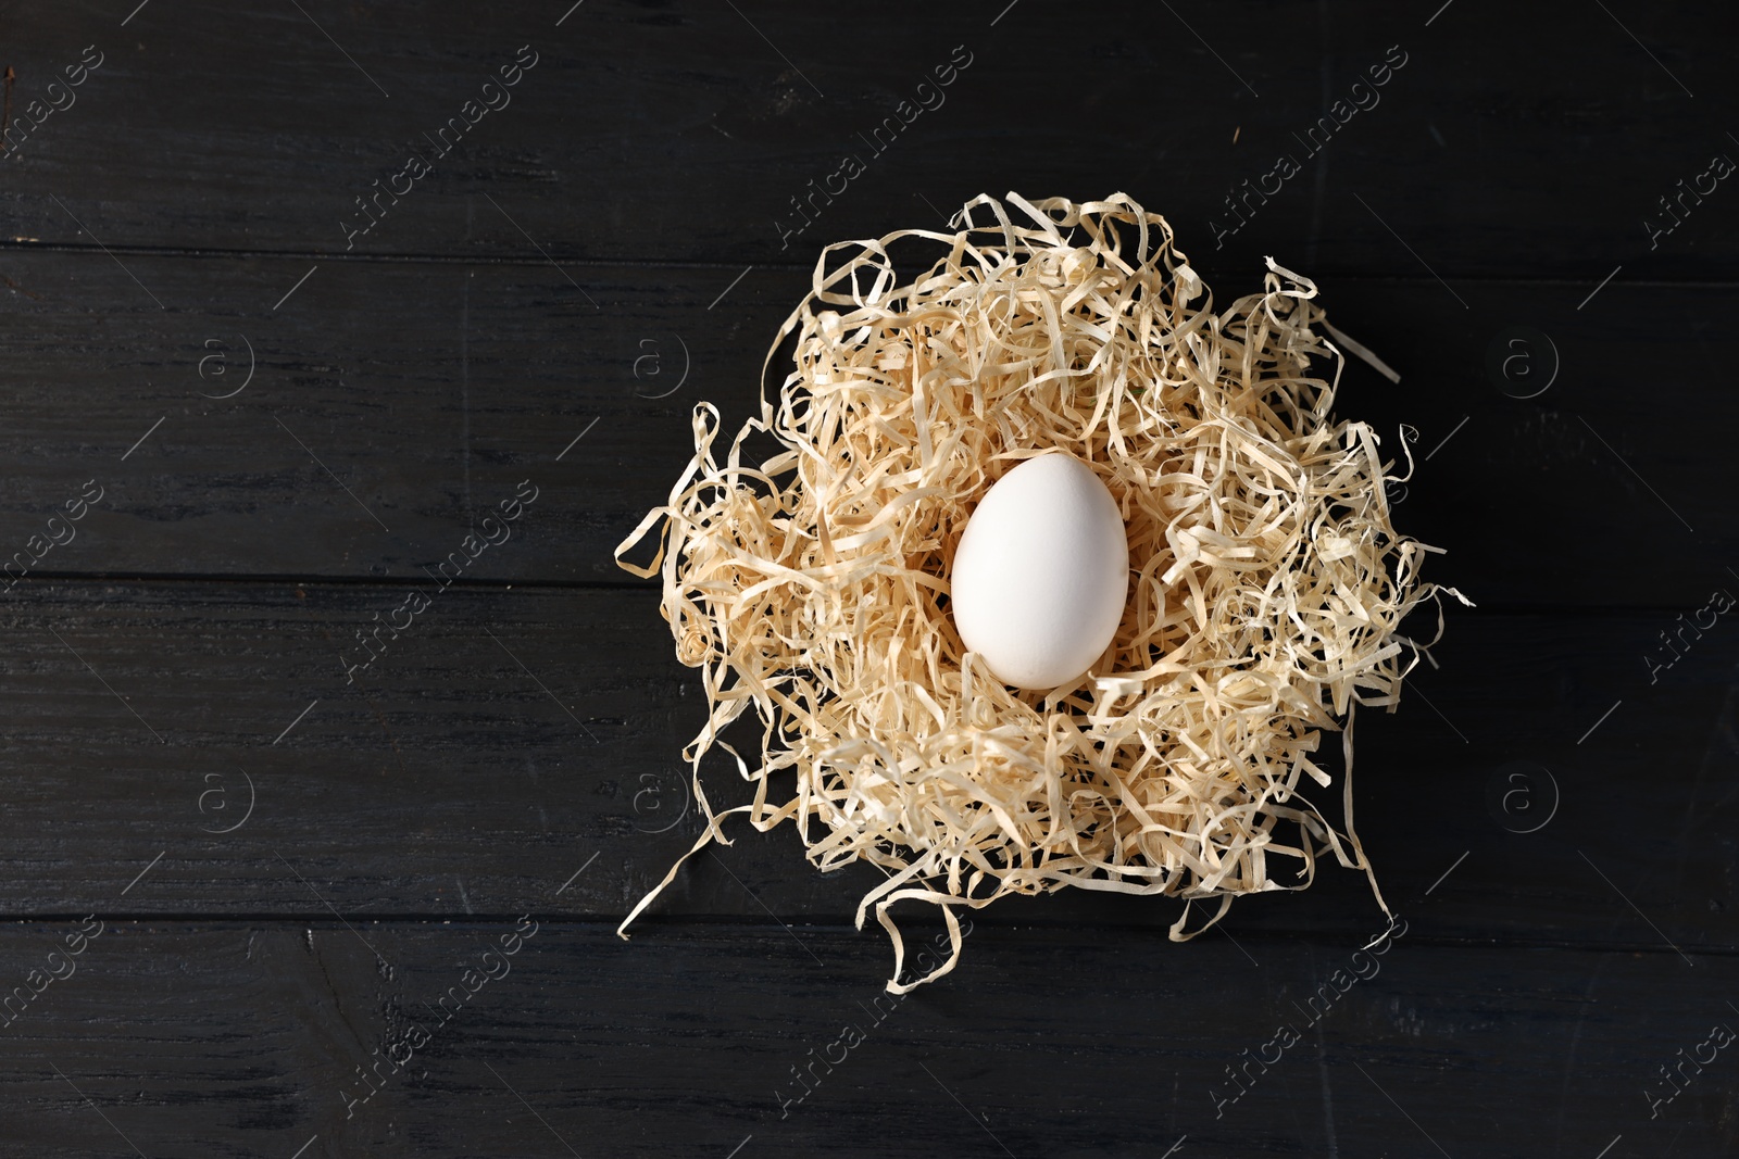
POLYGON ((103 492, 0 596, 0 1152, 1739 1154, 1739 1043, 1704 1044, 1739 1027, 1739 612, 1680 632, 1739 593, 1739 189, 1659 203, 1739 158, 1732 5, 569 2, 0 5, 10 116, 103 59, 0 156, 0 556, 103 492), (878 878, 790 827, 614 937, 699 831, 704 711, 612 547, 696 401, 748 417, 823 243, 1005 189, 1134 195, 1221 302, 1273 254, 1403 375, 1351 367, 1337 412, 1412 438, 1396 525, 1478 608, 1358 721, 1407 933, 1315 1022, 1383 928, 1332 867, 1184 945, 1169 902, 1002 902, 880 1018, 878 878), (513 539, 346 683, 522 480, 513 539), (525 914, 511 973, 426 1013, 525 914))

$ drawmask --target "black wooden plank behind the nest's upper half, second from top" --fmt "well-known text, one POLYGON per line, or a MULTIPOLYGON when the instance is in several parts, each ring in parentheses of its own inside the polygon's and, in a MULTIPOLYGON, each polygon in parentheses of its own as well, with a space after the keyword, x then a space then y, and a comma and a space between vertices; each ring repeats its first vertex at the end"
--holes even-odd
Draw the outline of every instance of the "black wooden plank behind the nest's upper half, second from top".
MULTIPOLYGON (((687 464, 694 403, 730 429, 758 412, 767 342, 807 287, 760 269, 732 285, 590 268, 583 292, 548 264, 313 266, 129 257, 136 283, 101 254, 14 261, 5 554, 96 480, 103 500, 38 575, 423 579, 532 480, 520 533, 464 577, 624 582, 610 553, 687 464)), ((1336 325, 1403 375, 1355 363, 1339 414, 1396 460, 1412 431, 1396 523, 1449 551, 1428 575, 1483 606, 1701 605, 1725 582, 1709 560, 1739 556, 1739 415, 1702 389, 1736 292, 1609 285, 1579 309, 1593 285, 1464 288, 1471 311, 1431 280, 1323 280, 1336 325), (1569 563, 1595 544, 1600 566, 1569 563)))

